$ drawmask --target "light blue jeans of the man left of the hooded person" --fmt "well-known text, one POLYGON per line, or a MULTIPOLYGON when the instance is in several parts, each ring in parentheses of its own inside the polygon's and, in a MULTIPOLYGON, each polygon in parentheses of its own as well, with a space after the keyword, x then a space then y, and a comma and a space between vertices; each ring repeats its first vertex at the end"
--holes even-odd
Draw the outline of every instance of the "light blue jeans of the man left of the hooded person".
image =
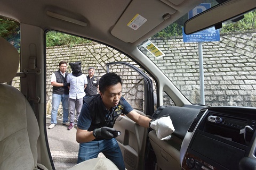
POLYGON ((52 112, 51 112, 51 124, 57 124, 57 114, 60 106, 60 101, 62 103, 63 109, 63 123, 68 122, 68 95, 57 95, 52 94, 52 112))

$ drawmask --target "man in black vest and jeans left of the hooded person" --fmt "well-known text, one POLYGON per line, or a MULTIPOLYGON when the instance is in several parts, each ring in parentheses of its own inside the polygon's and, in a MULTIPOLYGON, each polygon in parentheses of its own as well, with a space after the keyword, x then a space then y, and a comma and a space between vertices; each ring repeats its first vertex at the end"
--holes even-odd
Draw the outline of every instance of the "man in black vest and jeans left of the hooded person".
POLYGON ((59 63, 59 70, 52 74, 51 84, 52 84, 52 112, 51 112, 51 125, 48 129, 54 128, 57 124, 57 114, 60 105, 62 103, 63 108, 63 121, 62 124, 69 126, 68 122, 68 94, 69 83, 67 83, 67 62, 61 61, 59 63))

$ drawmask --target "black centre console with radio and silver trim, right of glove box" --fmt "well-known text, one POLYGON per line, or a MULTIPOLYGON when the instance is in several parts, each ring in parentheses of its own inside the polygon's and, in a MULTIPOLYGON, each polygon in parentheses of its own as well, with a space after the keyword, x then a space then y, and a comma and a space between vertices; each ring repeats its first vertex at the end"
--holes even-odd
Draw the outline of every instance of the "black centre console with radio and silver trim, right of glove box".
POLYGON ((256 160, 255 108, 209 107, 201 110, 183 140, 182 169, 239 169, 244 157, 256 160))

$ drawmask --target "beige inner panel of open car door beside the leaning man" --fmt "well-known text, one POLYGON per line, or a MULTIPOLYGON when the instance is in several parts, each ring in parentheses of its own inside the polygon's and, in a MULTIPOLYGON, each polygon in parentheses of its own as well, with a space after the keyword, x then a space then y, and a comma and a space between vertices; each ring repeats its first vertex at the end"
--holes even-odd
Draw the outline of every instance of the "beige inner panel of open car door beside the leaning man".
MULTIPOLYGON (((141 115, 143 112, 137 111, 141 115)), ((121 148, 126 169, 143 169, 147 128, 133 122, 127 116, 119 116, 114 128, 121 131, 116 139, 121 148)))

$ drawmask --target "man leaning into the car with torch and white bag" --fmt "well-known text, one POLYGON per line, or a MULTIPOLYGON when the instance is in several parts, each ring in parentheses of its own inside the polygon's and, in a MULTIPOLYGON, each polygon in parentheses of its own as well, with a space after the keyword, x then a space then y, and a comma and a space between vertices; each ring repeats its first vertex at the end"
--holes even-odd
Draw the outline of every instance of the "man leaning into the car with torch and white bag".
POLYGON ((156 130, 159 139, 166 140, 174 132, 173 126, 171 128, 169 126, 172 125, 169 115, 151 120, 133 110, 122 97, 122 80, 117 74, 104 74, 99 80, 99 88, 98 95, 85 99, 77 123, 76 141, 79 143, 77 163, 97 158, 102 152, 119 169, 125 169, 122 152, 115 139, 118 132, 113 129, 116 118, 121 113, 140 126, 156 130), (154 124, 157 124, 157 129, 154 124))

